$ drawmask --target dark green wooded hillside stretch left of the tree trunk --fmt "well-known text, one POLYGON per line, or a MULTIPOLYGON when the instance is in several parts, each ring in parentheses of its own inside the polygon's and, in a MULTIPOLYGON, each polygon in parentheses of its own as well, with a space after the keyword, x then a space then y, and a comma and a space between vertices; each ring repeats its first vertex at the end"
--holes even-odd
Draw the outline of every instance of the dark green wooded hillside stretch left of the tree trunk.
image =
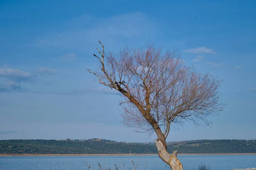
POLYGON ((1 140, 0 154, 156 153, 154 145, 105 140, 1 140))

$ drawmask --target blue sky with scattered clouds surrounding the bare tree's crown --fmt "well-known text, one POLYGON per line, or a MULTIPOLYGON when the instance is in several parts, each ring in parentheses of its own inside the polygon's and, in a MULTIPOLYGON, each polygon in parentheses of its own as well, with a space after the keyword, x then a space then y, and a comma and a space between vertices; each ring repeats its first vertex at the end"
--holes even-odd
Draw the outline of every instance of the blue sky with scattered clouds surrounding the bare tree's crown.
POLYGON ((153 141, 120 123, 120 97, 100 85, 99 47, 177 48, 223 79, 211 127, 187 122, 167 141, 256 139, 256 1, 1 0, 0 139, 153 141))

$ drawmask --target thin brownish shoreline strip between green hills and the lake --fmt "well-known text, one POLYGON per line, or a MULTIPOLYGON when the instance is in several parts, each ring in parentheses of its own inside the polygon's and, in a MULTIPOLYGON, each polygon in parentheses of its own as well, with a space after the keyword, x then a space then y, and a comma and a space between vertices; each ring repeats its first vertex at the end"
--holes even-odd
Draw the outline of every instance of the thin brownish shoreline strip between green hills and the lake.
MULTIPOLYGON (((256 155, 256 153, 178 153, 177 155, 256 155)), ((0 154, 1 156, 158 156, 158 154, 0 154)))

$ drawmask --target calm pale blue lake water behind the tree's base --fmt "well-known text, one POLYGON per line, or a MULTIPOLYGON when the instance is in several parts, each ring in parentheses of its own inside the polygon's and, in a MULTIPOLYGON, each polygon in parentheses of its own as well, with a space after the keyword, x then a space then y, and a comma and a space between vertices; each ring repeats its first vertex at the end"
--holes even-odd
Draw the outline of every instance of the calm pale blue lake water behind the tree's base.
MULTIPOLYGON (((256 155, 193 155, 178 158, 184 170, 196 170, 201 163, 209 164, 212 170, 256 167, 256 155)), ((115 164, 121 166, 119 170, 129 170, 129 167, 134 167, 131 166, 131 159, 137 164, 137 170, 170 169, 158 156, 28 156, 0 157, 0 170, 88 170, 86 164, 99 170, 98 162, 111 170, 115 170, 115 164)))

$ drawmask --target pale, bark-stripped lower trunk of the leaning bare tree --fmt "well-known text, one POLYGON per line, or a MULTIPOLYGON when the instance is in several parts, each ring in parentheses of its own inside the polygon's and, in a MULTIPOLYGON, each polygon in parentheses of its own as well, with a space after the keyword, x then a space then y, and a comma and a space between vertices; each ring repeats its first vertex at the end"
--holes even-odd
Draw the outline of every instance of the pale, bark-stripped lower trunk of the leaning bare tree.
POLYGON ((156 146, 158 150, 159 157, 168 164, 172 170, 183 170, 180 160, 177 158, 177 150, 172 154, 169 154, 166 149, 166 144, 163 144, 162 141, 156 139, 156 146))

